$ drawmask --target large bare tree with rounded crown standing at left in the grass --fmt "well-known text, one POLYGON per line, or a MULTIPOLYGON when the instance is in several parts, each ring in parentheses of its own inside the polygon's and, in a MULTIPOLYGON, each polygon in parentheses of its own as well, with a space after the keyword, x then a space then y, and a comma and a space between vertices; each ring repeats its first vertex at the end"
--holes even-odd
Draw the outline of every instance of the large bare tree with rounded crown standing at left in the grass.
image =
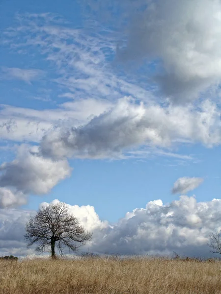
POLYGON ((86 232, 78 219, 68 212, 65 203, 59 202, 40 208, 34 217, 26 224, 25 239, 28 247, 34 243, 38 252, 46 252, 51 247, 52 258, 55 258, 55 245, 61 255, 64 247, 76 251, 92 234, 86 232))

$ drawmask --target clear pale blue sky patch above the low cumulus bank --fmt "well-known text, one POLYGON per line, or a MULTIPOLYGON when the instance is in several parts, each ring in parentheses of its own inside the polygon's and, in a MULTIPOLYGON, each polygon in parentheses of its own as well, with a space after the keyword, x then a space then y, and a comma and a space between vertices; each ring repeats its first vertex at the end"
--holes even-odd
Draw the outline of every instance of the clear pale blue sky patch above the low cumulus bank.
MULTIPOLYGON (((172 195, 173 183, 183 176, 203 177, 204 183, 195 192, 198 201, 220 198, 220 164, 217 162, 220 149, 204 150, 202 147, 190 148, 191 154, 200 153, 198 162, 179 165, 167 157, 122 161, 73 160, 71 178, 60 182, 44 199, 57 198, 69 204, 87 205, 96 208, 102 220, 111 222, 124 217, 125 212, 158 198, 164 203, 178 199, 172 195), (210 154, 210 156, 208 156, 210 154), (204 171, 204 172, 203 172, 204 171), (46 198, 47 197, 47 198, 46 198)), ((26 207, 36 208, 42 197, 32 196, 26 207)))

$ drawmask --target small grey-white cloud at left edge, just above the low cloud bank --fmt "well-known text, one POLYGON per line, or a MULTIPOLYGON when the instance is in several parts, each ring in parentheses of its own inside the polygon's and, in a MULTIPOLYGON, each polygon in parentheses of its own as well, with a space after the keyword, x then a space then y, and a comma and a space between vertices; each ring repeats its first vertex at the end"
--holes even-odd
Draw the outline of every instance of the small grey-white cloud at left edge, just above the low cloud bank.
POLYGON ((13 193, 6 188, 0 188, 0 208, 14 208, 27 203, 27 197, 22 192, 13 193))

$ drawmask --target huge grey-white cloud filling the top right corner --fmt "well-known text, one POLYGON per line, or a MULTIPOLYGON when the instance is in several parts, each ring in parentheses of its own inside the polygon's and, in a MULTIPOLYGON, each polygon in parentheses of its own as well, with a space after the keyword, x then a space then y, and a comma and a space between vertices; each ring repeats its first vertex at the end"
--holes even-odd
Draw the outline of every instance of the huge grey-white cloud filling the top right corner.
MULTIPOLYGON (((131 8, 129 1, 128 6, 131 8)), ((157 60, 155 81, 173 101, 190 101, 221 80, 220 0, 138 1, 118 58, 157 60)))

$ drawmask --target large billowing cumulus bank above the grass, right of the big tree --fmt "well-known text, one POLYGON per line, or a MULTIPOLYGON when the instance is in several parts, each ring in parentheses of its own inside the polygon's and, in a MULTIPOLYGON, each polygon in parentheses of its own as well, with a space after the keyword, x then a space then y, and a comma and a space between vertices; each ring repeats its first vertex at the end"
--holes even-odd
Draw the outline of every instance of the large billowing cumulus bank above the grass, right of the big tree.
POLYGON ((91 249, 100 253, 172 254, 208 257, 208 238, 221 230, 221 200, 196 202, 194 197, 163 205, 150 201, 146 208, 127 213, 91 249))

